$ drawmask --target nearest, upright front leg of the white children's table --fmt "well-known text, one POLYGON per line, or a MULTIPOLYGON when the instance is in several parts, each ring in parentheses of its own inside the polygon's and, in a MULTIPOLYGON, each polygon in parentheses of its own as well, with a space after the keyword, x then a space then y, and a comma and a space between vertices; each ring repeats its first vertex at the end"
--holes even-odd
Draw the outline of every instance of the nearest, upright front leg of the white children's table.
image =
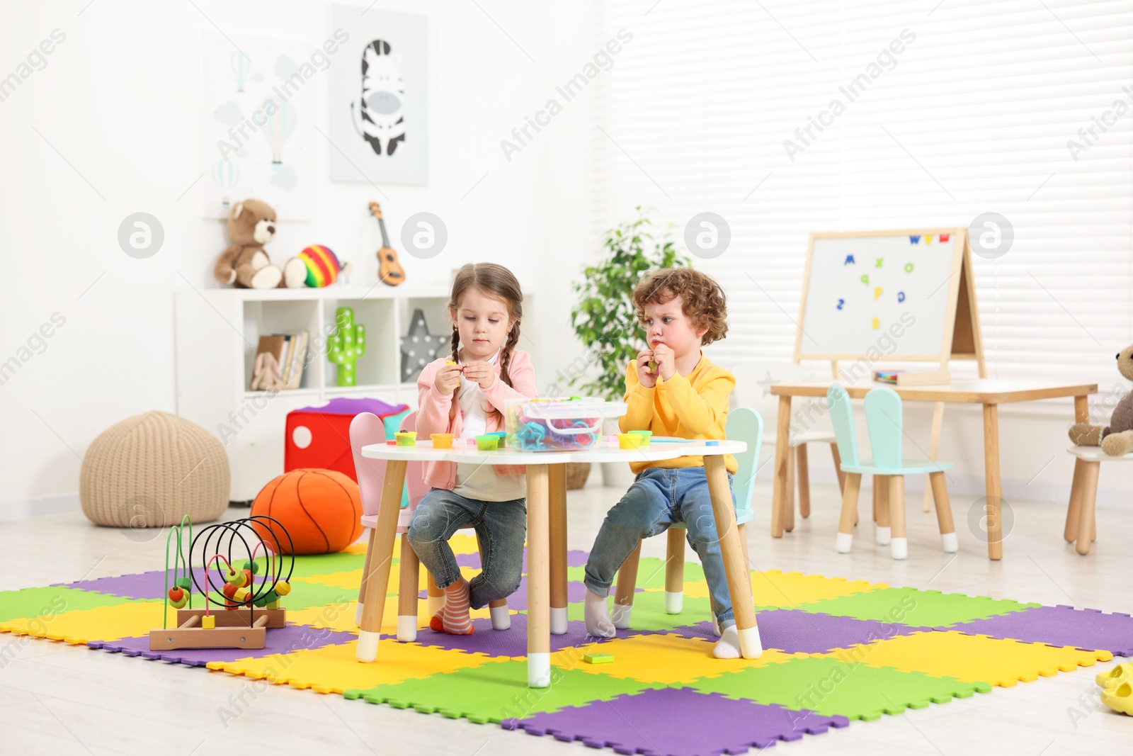
POLYGON ((551 687, 550 475, 527 466, 527 686, 551 687))

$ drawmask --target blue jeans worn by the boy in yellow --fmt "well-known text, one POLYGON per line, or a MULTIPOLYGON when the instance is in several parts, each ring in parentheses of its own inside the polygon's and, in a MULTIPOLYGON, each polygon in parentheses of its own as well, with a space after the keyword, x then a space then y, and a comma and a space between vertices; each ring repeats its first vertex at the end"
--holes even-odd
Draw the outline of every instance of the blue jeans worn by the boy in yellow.
MULTIPOLYGON (((727 490, 734 510, 731 473, 727 475, 727 490)), ((716 535, 716 518, 712 511, 712 496, 708 495, 708 478, 702 467, 648 467, 638 473, 637 481, 622 500, 610 509, 598 537, 594 540, 586 561, 586 587, 599 596, 608 595, 614 574, 641 540, 664 533, 674 523, 684 524, 689 545, 700 557, 712 596, 712 610, 721 629, 735 625, 719 537, 716 535)))

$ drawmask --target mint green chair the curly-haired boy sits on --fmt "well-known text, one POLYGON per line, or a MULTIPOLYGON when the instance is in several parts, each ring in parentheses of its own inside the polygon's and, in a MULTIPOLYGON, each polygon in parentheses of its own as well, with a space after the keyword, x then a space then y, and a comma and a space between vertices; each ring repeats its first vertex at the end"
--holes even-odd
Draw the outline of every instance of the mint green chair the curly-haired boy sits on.
MULTIPOLYGON (((756 470, 759 467, 759 445, 764 440, 764 418, 750 407, 736 407, 727 414, 724 424, 724 438, 732 441, 743 441, 748 450, 735 455, 735 475, 732 476, 732 493, 735 495, 735 524, 739 527, 740 541, 743 543, 743 557, 748 557, 748 538, 744 524, 755 517, 751 509, 751 498, 756 491, 756 470)), ((684 603, 684 526, 673 525, 667 532, 668 542, 665 551, 665 612, 680 614, 684 603)), ((630 554, 617 570, 617 586, 614 589, 614 605, 611 619, 614 626, 627 629, 630 626, 630 614, 633 611, 633 592, 637 588, 638 560, 641 558, 641 544, 630 554)), ((749 564, 750 569, 750 564, 749 564)), ((716 618, 713 617, 715 627, 716 618)), ((716 632, 719 635, 719 631, 716 632)))

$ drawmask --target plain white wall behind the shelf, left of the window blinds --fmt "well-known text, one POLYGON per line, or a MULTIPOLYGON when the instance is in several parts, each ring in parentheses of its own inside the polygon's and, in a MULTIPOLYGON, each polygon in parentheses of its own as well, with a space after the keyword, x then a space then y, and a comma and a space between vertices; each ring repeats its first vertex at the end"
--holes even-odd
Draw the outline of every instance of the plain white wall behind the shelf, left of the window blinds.
MULTIPOLYGON (((108 426, 151 409, 173 410, 172 292, 187 281, 216 286, 212 264, 227 244, 223 224, 201 218, 189 189, 204 171, 197 146, 202 32, 219 26, 231 35, 315 45, 329 23, 326 5, 298 0, 84 5, 9 5, 0 19, 0 49, 9 52, 0 76, 52 29, 66 35, 46 66, 0 102, 7 261, 0 362, 26 356, 18 350, 53 313, 66 318, 42 354, 0 385, 0 502, 20 509, 73 495, 82 455, 108 426), (117 244, 119 223, 137 211, 156 215, 165 230, 163 248, 148 260, 128 257, 117 244)), ((510 266, 536 295, 533 317, 542 321, 546 343, 556 345, 526 345, 544 383, 569 339, 562 273, 581 264, 579 229, 588 228, 570 218, 579 212, 570 203, 585 194, 585 155, 571 138, 585 105, 568 109, 510 162, 500 141, 546 101, 560 57, 563 71, 581 65, 572 35, 586 36, 586 14, 492 0, 479 7, 383 1, 377 8, 429 16, 429 182, 382 186, 389 197, 382 205, 393 228, 400 228, 397 219, 427 210, 444 219, 450 236, 432 261, 402 254, 407 278, 446 284, 449 271, 466 262, 510 266)), ((329 133, 326 78, 307 86, 316 90, 320 128, 329 133)), ((314 220, 281 223, 269 252, 282 258, 325 244, 360 263, 353 282, 372 282, 378 236, 366 204, 381 197, 368 185, 331 182, 331 147, 314 138, 314 220)))

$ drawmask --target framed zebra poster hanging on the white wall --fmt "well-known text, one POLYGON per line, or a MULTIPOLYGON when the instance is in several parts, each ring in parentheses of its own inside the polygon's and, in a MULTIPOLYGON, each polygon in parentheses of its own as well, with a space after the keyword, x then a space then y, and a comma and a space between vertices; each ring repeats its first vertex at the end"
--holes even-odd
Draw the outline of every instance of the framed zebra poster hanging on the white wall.
POLYGON ((428 19, 331 6, 349 41, 331 68, 331 180, 428 182, 428 19))

